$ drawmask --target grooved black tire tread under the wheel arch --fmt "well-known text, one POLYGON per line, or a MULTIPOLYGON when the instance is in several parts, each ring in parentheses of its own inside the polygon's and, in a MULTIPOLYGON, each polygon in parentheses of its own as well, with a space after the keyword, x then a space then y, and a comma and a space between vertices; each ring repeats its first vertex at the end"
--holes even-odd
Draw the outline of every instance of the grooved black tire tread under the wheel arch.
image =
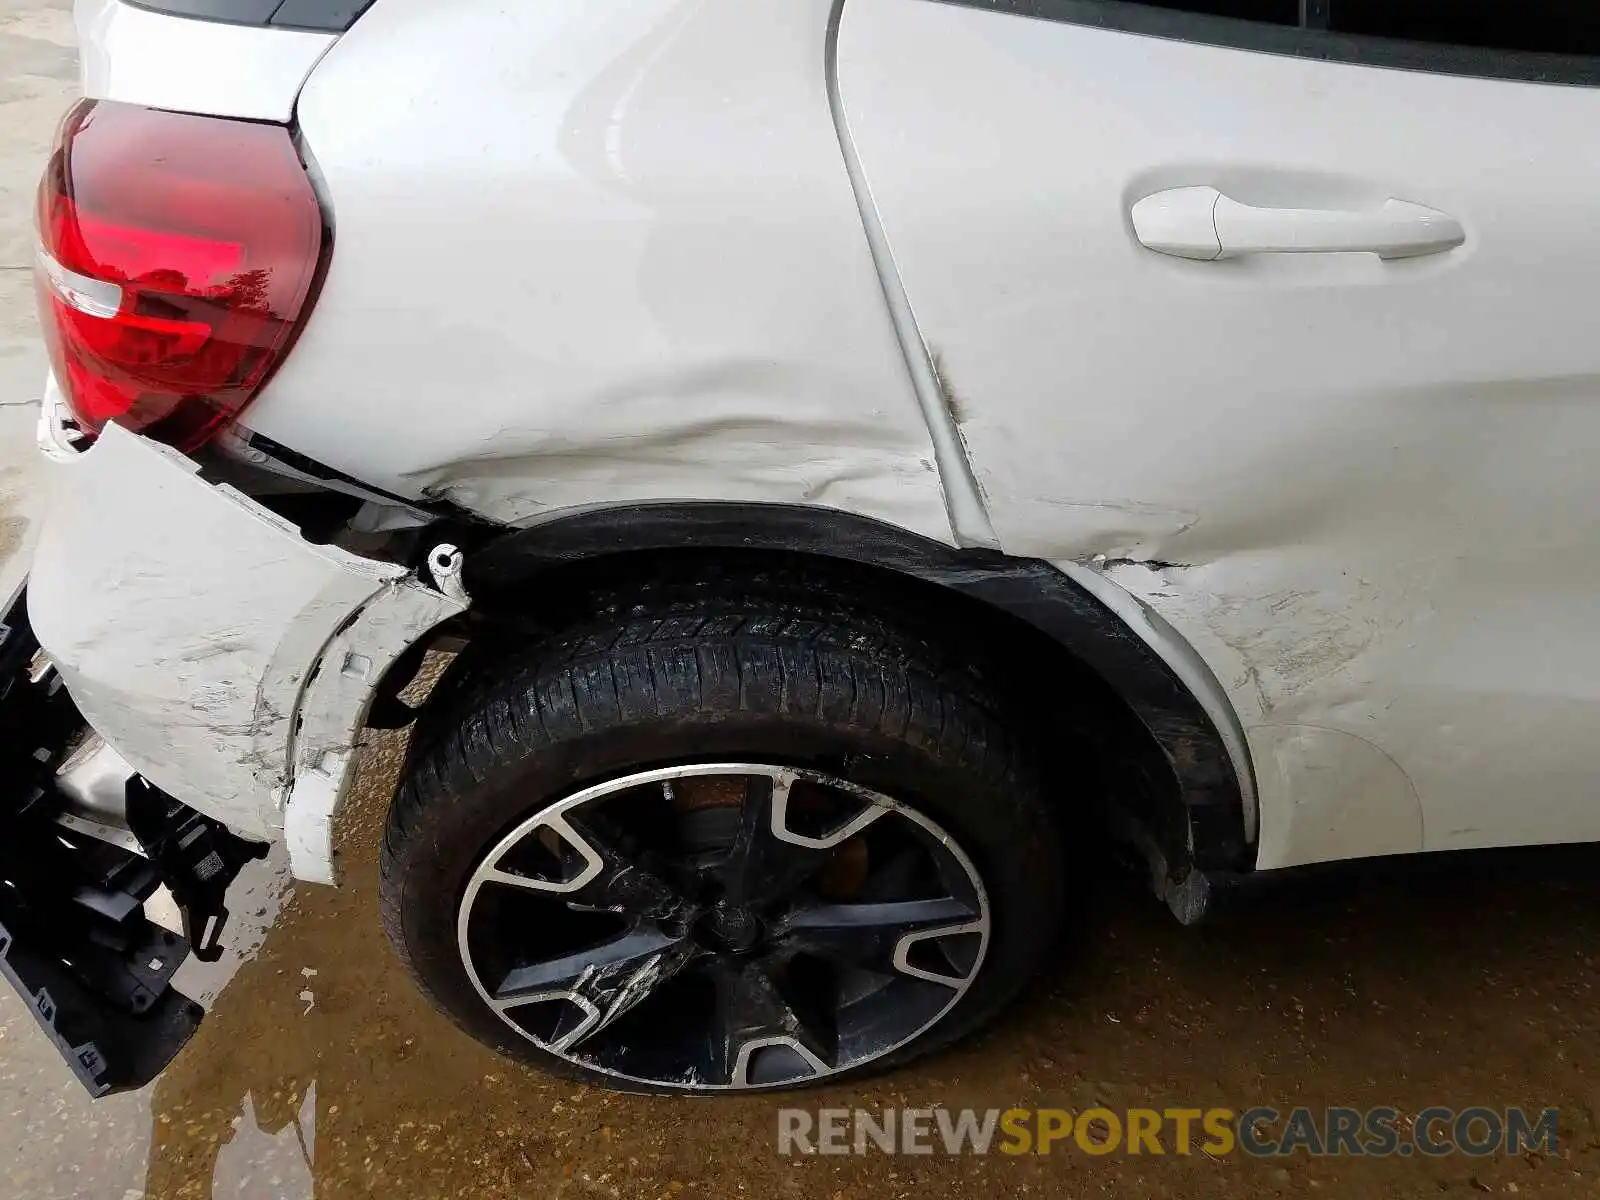
MULTIPOLYGON (((803 582, 760 579, 715 589, 666 582, 597 597, 590 613, 565 627, 514 653, 478 658, 440 704, 424 709, 381 843, 384 930, 424 994, 482 1037, 430 986, 405 922, 413 890, 426 886, 427 872, 418 866, 437 854, 453 810, 509 760, 549 754, 595 731, 706 714, 798 717, 838 734, 909 747, 981 781, 992 803, 1016 805, 1016 819, 1043 830, 1016 848, 1016 867, 1054 875, 1056 864, 1046 861, 1059 856, 1051 818, 1022 744, 1008 733, 1006 707, 981 664, 803 582)), ((1059 883, 1054 888, 1059 907, 1059 883)), ((1053 928, 1054 915, 1043 925, 1053 928)), ((986 1010, 1003 1005, 1024 981, 1026 974, 986 1010)), ((936 1029, 907 1056, 960 1032, 941 1037, 936 1029)), ((522 1046, 501 1048, 526 1056, 522 1046)), ((541 1058, 541 1066, 560 1069, 554 1059, 541 1058)))

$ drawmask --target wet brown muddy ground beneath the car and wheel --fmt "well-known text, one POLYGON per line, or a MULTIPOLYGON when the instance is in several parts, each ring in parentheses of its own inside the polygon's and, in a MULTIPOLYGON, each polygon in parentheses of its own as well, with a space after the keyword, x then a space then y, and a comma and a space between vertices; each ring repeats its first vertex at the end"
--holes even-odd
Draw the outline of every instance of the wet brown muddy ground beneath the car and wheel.
POLYGON ((157 1083, 146 1195, 165 1197, 1526 1197, 1600 1195, 1600 878, 1458 859, 1336 874, 1181 928, 1085 870, 1045 978, 981 1037, 798 1098, 646 1099, 480 1048, 378 928, 398 742, 349 810, 346 886, 299 888, 157 1083), (819 1157, 781 1106, 1560 1109, 1554 1154, 819 1157), (253 1142, 250 1139, 254 1139, 253 1142), (266 1150, 262 1150, 262 1146, 266 1150))

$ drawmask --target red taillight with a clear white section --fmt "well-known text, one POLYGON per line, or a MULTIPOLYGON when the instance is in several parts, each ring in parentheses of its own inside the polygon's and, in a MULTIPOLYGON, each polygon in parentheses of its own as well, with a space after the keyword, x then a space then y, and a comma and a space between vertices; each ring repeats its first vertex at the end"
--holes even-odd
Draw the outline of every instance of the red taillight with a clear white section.
POLYGON ((91 437, 194 450, 288 352, 326 245, 290 131, 83 101, 38 186, 40 323, 91 437))

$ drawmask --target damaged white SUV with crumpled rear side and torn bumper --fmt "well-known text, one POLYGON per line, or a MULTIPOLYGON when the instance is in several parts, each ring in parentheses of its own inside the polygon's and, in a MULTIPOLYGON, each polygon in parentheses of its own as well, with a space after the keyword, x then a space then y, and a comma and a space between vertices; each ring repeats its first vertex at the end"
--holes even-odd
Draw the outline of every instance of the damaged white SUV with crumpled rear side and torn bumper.
POLYGON ((1600 840, 1590 10, 78 27, 0 966, 96 1091, 192 1030, 240 862, 336 882, 370 726, 418 982, 640 1091, 974 1029, 1093 821, 1182 920, 1600 840))

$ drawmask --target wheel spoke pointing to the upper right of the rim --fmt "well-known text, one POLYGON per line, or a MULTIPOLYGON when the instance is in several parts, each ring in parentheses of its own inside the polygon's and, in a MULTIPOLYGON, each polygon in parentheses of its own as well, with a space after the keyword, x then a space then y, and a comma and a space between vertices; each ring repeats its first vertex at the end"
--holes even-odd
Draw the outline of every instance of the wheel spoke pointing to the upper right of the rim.
POLYGON ((864 802, 850 821, 821 837, 789 826, 789 797, 798 776, 778 771, 754 778, 744 798, 739 835, 717 874, 734 904, 760 907, 811 878, 848 838, 890 810, 864 802))

